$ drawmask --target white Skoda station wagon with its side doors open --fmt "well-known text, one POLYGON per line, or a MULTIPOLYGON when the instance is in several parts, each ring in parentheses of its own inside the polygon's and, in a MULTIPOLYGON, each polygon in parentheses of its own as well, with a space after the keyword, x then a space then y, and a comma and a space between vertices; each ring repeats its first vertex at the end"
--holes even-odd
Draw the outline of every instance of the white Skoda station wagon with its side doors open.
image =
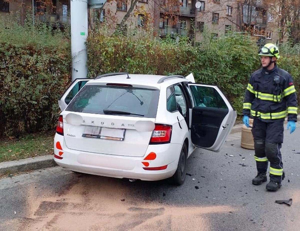
POLYGON ((76 79, 58 101, 55 162, 71 171, 181 185, 196 147, 220 151, 236 111, 217 86, 183 76, 76 79))

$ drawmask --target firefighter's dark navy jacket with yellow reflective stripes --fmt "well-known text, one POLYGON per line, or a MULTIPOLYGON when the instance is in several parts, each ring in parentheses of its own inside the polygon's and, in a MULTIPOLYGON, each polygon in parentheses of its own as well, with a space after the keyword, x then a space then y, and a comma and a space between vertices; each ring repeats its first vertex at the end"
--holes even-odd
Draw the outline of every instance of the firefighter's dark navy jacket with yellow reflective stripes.
POLYGON ((264 122, 283 119, 297 121, 297 96, 291 75, 276 66, 272 70, 261 68, 249 80, 243 115, 260 118, 264 122))

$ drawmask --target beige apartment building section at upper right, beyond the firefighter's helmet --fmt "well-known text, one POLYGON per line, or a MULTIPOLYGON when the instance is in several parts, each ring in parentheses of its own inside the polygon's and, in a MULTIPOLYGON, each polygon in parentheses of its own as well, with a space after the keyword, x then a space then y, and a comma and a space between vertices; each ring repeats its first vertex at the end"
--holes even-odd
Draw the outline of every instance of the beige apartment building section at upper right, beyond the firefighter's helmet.
POLYGON ((248 31, 258 45, 277 43, 278 26, 274 12, 261 0, 203 0, 196 14, 196 41, 203 32, 219 37, 228 31, 248 31))

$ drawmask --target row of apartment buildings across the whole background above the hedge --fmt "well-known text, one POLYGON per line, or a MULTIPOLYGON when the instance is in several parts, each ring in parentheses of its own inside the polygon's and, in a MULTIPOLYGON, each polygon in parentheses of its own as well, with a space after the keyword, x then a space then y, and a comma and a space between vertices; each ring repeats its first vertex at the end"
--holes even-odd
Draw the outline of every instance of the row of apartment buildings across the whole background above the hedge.
MULTIPOLYGON (((21 0, 20 0, 21 1, 21 0)), ((36 0, 23 0, 24 7, 0 0, 0 16, 17 10, 22 16, 34 11, 35 20, 46 21, 54 27, 70 23, 70 1, 52 0, 54 8, 42 7, 36 0)), ((121 23, 131 7, 131 1, 115 0, 105 3, 102 10, 89 9, 91 29, 109 25, 112 31, 121 23), (106 22, 106 23, 103 23, 106 22)), ((204 34, 220 37, 228 31, 249 31, 258 45, 278 43, 280 9, 264 4, 263 0, 178 0, 172 5, 168 0, 139 0, 123 25, 124 33, 143 33, 152 28, 154 36, 187 36, 199 42, 204 34), (198 3, 197 3, 198 2, 198 3), (198 8, 196 8, 196 3, 198 8)))

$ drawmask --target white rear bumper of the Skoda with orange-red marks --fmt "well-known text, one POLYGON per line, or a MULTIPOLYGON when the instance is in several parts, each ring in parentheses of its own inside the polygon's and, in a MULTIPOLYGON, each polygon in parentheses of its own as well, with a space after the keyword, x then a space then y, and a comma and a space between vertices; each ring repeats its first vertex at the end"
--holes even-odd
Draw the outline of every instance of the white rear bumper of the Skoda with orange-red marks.
POLYGON ((90 153, 68 149, 64 144, 64 137, 55 134, 54 154, 63 159, 54 158, 63 168, 100 176, 116 178, 134 178, 140 180, 162 180, 173 176, 177 169, 181 145, 162 144, 148 145, 143 157, 116 156, 99 153, 90 153), (59 142, 62 150, 56 148, 59 142), (59 155, 59 152, 63 154, 59 155), (144 160, 150 153, 155 152, 154 160, 144 160), (149 164, 149 166, 147 166, 149 164), (144 170, 143 167, 161 167, 168 165, 164 170, 144 170))

